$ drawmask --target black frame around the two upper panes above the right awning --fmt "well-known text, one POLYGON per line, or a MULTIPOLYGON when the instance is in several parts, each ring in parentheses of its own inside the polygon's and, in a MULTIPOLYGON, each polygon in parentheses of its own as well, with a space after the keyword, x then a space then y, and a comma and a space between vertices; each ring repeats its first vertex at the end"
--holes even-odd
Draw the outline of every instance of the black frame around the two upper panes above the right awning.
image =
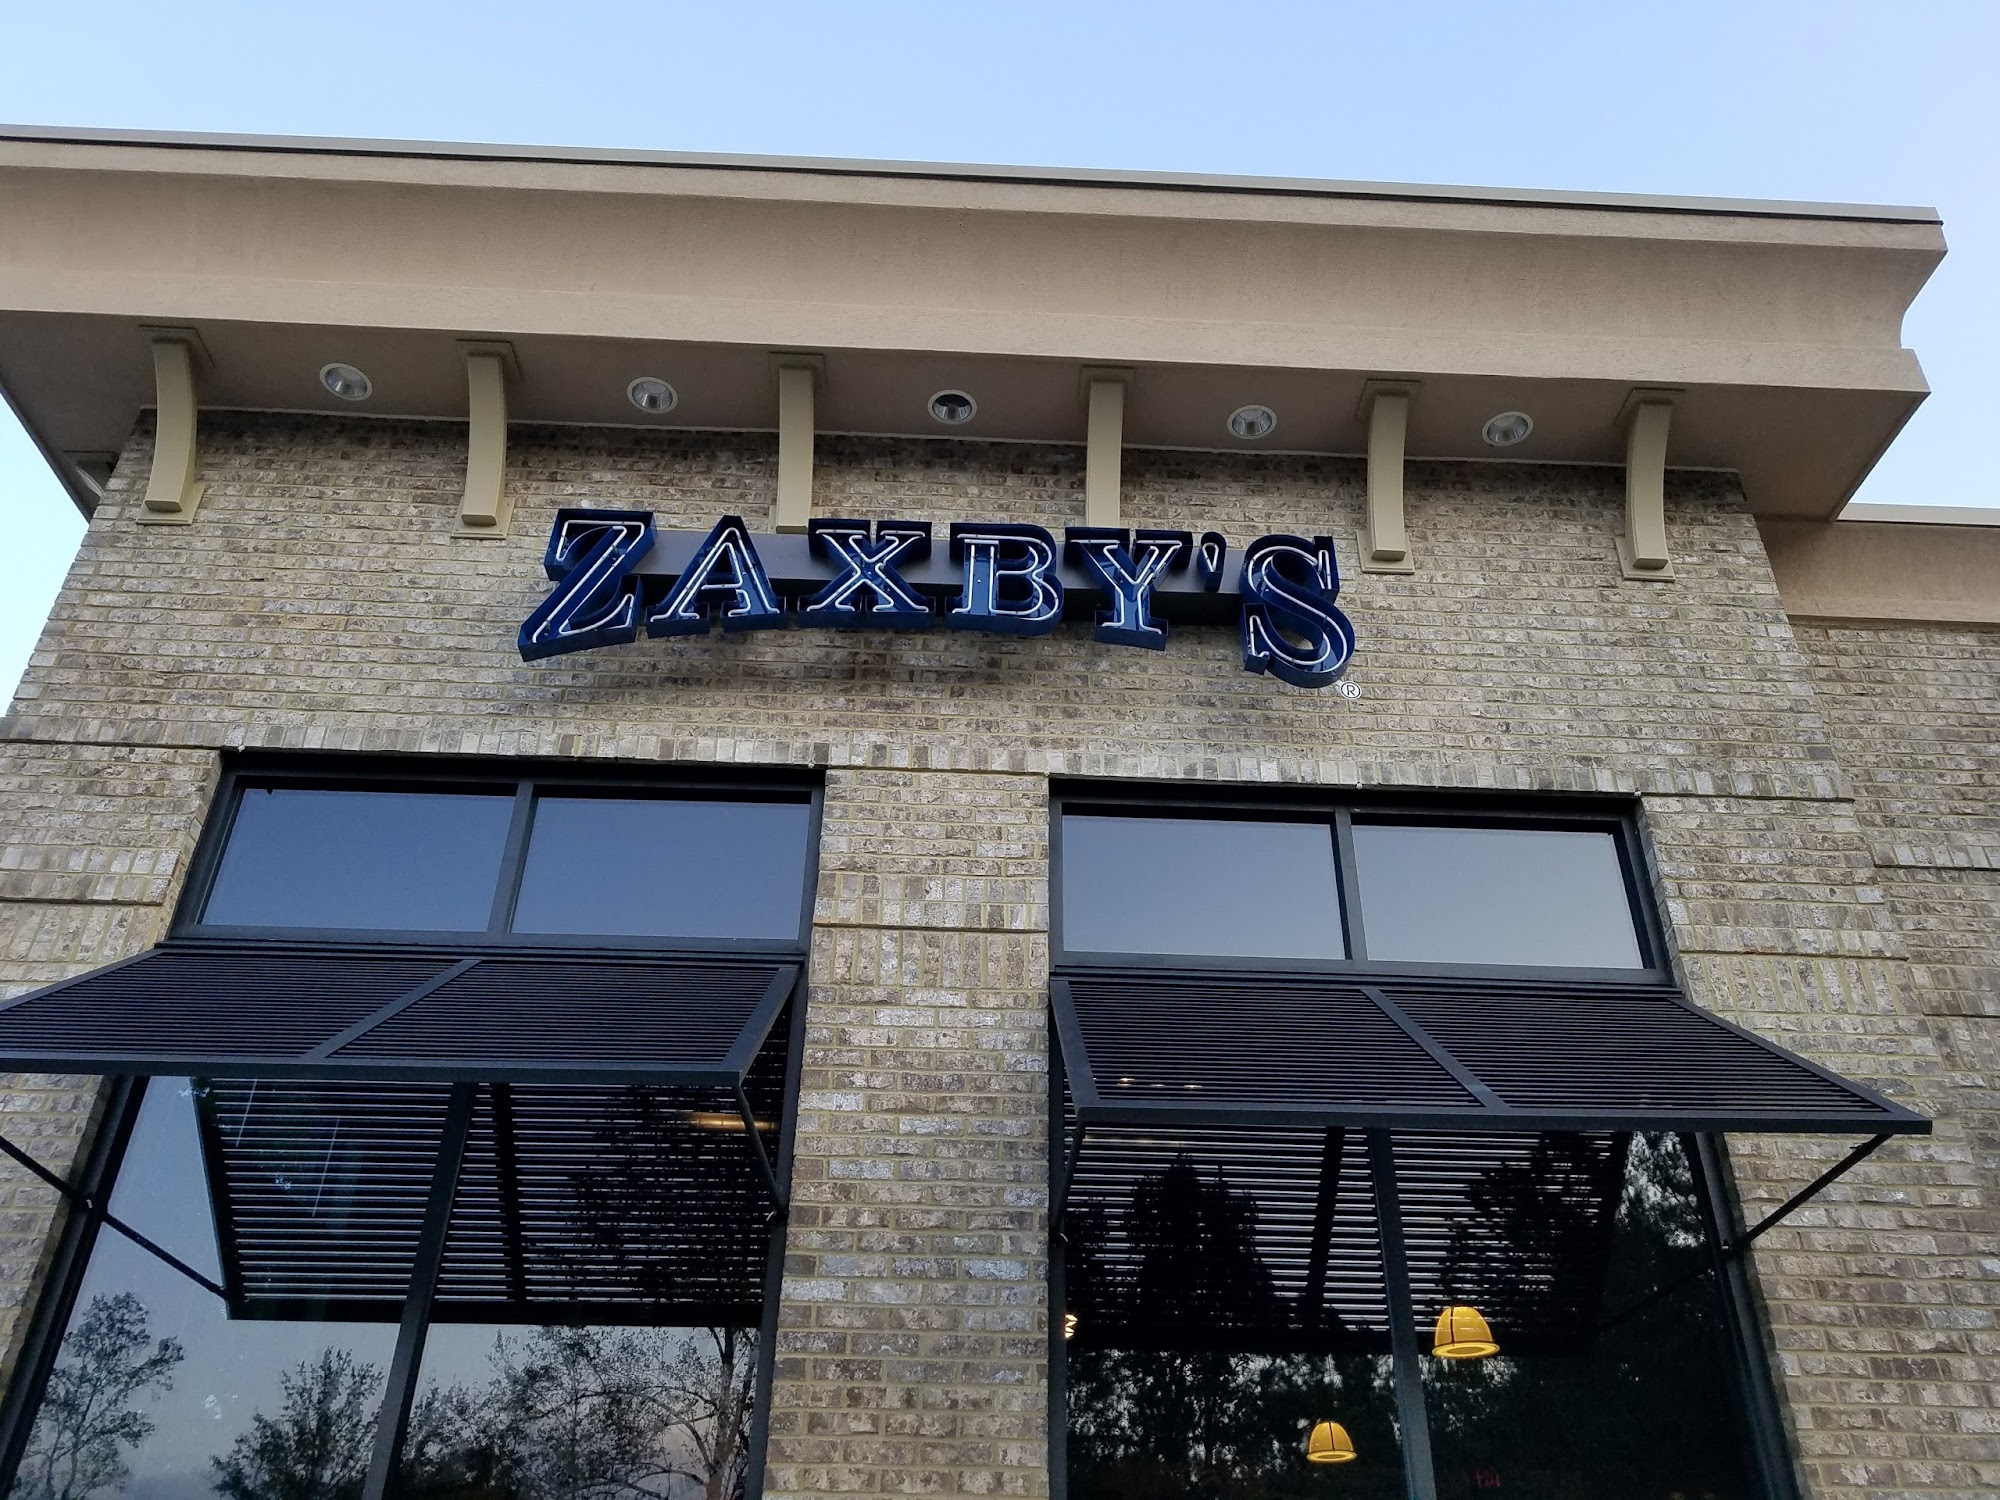
POLYGON ((1048 928, 1052 968, 1064 970, 1230 970, 1266 974, 1338 974, 1350 978, 1482 978, 1482 980, 1602 980, 1614 984, 1672 986, 1674 972, 1666 928, 1652 900, 1650 864, 1638 824, 1638 804, 1622 796, 1480 796, 1326 792, 1318 788, 1196 788, 1106 786, 1102 782, 1052 784, 1048 828, 1048 928), (1226 954, 1144 954, 1070 948, 1064 936, 1062 820, 1066 814, 1122 818, 1216 818, 1264 822, 1324 822, 1334 840, 1334 882, 1346 958, 1246 958, 1226 954), (1572 964, 1426 964, 1368 958, 1360 906, 1360 870, 1354 858, 1354 824, 1390 822, 1454 828, 1524 828, 1542 832, 1610 834, 1618 852, 1626 908, 1638 944, 1638 968, 1586 968, 1572 964))

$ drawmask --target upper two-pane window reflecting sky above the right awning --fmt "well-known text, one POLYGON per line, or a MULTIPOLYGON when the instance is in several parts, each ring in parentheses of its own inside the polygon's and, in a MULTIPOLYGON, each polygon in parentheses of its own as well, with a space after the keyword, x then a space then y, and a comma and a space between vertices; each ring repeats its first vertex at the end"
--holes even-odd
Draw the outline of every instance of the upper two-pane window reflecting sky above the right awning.
POLYGON ((1654 972, 1622 812, 1060 800, 1064 962, 1654 972))

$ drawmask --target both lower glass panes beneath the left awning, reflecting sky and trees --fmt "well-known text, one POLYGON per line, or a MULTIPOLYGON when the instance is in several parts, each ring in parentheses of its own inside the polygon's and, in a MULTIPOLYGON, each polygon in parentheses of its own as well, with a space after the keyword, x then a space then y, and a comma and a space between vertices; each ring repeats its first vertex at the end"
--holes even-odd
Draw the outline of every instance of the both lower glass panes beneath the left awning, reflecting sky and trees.
MULTIPOLYGON (((784 1058, 746 1084, 774 1128, 784 1058)), ((434 1084, 148 1084, 12 1500, 358 1500, 436 1174, 434 1084), (218 1226, 226 1226, 218 1234, 218 1226)), ((732 1500, 768 1194, 702 1090, 484 1084, 400 1486, 732 1500)))

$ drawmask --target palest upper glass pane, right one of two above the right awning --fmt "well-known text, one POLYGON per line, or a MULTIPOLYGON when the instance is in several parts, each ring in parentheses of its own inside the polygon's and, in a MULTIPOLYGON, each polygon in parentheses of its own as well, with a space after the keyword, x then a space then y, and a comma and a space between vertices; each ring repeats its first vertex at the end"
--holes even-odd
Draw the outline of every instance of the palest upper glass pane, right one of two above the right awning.
POLYGON ((1644 966, 1610 834, 1358 822, 1354 860, 1370 958, 1644 966))

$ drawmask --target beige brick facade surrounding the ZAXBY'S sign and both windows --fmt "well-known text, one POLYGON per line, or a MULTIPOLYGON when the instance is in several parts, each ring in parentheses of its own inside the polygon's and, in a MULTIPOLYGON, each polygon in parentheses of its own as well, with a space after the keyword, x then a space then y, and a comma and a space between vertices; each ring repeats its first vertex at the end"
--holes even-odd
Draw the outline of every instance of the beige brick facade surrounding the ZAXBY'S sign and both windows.
MULTIPOLYGON (((1048 778, 1638 794, 1690 994, 1936 1116, 1756 1254, 1814 1496, 2000 1492, 2000 636, 1794 626, 1726 476, 1412 464, 1414 576, 1360 574, 1358 462, 1126 454, 1126 518, 1332 534, 1362 696, 1166 652, 770 632, 524 666, 562 504, 768 518, 758 434, 516 430, 504 542, 452 540, 464 432, 206 418, 202 514, 132 522, 134 440, 0 740, 0 986, 164 928, 226 748, 826 772, 770 1494, 1046 1492, 1048 778)), ((1082 518, 1082 454, 820 438, 842 516, 1082 518)), ((78 1080, 10 1080, 60 1164, 78 1080)), ((1746 1212, 1846 1142, 1736 1140, 1746 1212)), ((0 1280, 52 1202, 0 1178, 0 1280)))

